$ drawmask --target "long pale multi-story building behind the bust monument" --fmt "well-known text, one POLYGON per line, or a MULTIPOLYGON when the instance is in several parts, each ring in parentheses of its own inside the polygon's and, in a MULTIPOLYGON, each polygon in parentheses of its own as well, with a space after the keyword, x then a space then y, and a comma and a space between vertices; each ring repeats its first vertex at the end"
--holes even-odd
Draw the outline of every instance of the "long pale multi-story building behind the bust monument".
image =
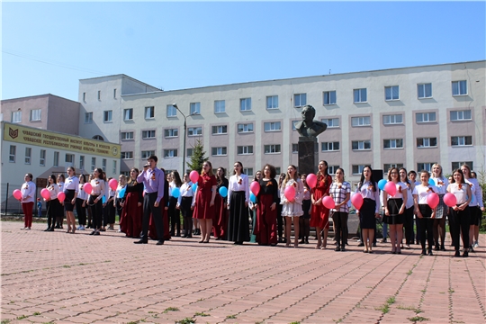
POLYGON ((155 153, 159 165, 181 171, 201 139, 212 165, 241 161, 252 175, 266 163, 297 164, 305 104, 328 124, 319 136, 330 173, 343 167, 356 181, 363 166, 446 173, 485 160, 485 64, 473 61, 295 77, 162 91, 129 76, 80 80, 79 133, 121 143, 121 171, 155 153), (184 116, 187 145, 184 151, 184 116))

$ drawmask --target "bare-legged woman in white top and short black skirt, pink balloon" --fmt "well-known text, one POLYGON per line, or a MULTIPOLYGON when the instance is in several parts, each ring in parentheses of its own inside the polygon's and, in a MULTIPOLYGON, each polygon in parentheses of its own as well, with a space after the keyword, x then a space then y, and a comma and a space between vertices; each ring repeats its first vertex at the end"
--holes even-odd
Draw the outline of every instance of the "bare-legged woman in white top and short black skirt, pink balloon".
POLYGON ((400 182, 399 170, 392 167, 388 171, 388 181, 395 184, 396 193, 391 196, 383 191, 385 215, 383 222, 390 226, 390 240, 392 254, 401 254, 401 239, 403 238, 403 221, 405 220, 405 207, 407 202, 407 185, 400 182))

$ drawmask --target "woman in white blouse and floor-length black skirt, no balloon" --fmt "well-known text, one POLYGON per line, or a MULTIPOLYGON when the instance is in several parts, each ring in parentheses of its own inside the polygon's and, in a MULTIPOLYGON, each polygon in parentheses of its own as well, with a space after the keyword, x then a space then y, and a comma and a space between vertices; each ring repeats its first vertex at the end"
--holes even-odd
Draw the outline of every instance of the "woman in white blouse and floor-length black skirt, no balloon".
POLYGON ((228 240, 241 245, 250 240, 248 223, 249 184, 243 164, 235 162, 228 186, 228 240))

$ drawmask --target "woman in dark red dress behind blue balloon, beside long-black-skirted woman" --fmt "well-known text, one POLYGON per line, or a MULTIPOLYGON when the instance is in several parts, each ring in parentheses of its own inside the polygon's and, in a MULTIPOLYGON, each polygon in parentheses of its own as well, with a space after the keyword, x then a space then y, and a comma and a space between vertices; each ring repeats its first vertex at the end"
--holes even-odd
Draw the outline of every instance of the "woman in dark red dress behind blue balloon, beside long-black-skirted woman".
POLYGON ((216 171, 216 181, 218 183, 216 198, 214 199, 214 211, 216 214, 212 223, 212 234, 216 240, 221 240, 226 239, 226 231, 228 230, 228 208, 226 207, 226 199, 220 195, 220 188, 228 189, 229 184, 226 178, 226 170, 222 166, 218 167, 216 171))

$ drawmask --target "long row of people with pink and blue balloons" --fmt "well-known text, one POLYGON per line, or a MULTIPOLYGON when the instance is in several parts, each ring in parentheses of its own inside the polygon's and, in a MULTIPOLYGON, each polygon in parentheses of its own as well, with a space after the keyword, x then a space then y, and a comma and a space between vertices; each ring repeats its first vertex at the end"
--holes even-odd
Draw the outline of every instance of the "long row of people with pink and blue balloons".
MULTIPOLYGON (((482 188, 467 165, 455 169, 448 179, 442 166, 434 165, 432 174, 392 167, 388 170, 386 187, 374 181, 373 169, 365 166, 361 179, 352 190, 345 172, 338 168, 334 178, 328 163, 321 160, 315 175, 301 175, 296 166, 276 181, 275 166, 267 164, 250 180, 241 162, 235 162, 232 175, 219 167, 213 171, 205 161, 200 174, 193 171, 181 176, 177 171, 166 175, 157 167, 157 157, 148 157, 141 172, 130 170, 130 176, 107 179, 103 169, 92 175, 76 175, 67 168, 67 178, 50 175, 41 195, 47 207, 47 229, 64 229, 67 233, 91 229, 90 235, 114 230, 115 215, 119 216, 119 231, 136 244, 147 244, 148 238, 163 245, 172 237, 193 238, 199 243, 228 240, 236 245, 249 242, 255 236, 258 245, 299 247, 309 244, 311 227, 316 229, 316 249, 326 249, 329 218, 333 220, 335 251, 347 249, 347 219, 353 195, 360 224, 360 243, 365 253, 376 246, 377 223, 383 222, 383 240, 390 235, 392 254, 401 254, 417 242, 421 255, 433 255, 433 250, 446 250, 446 219, 455 257, 463 257, 478 247, 479 225, 484 210, 482 188), (309 180, 311 179, 311 181, 309 180), (308 184, 309 182, 309 184, 308 184), (429 193, 437 193, 436 206, 428 202, 429 193), (454 195, 455 203, 447 203, 446 193, 454 195), (432 208, 433 207, 433 208, 432 208), (76 209, 78 226, 74 210, 76 209), (251 215, 253 217, 250 219, 251 215), (181 223, 182 216, 182 223, 181 223), (250 226, 251 221, 251 226, 250 226), (292 238, 293 226, 293 240, 292 238), (415 230, 416 229, 416 230, 415 230), (415 233, 416 232, 416 233, 415 233), (426 244, 427 243, 427 244, 426 244)), ((24 212, 24 228, 31 229, 36 187, 32 175, 24 176, 20 192, 24 212)), ((447 197, 449 198, 449 197, 447 197)))

